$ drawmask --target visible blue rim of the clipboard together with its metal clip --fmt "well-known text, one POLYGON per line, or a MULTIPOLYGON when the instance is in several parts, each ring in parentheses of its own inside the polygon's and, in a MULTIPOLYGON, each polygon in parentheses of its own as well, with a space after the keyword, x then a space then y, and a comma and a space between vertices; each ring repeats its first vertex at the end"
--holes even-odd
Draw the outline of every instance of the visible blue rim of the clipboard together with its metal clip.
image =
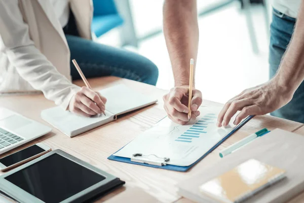
MULTIPOLYGON (((143 165, 143 166, 148 166, 148 167, 154 167, 154 168, 163 168, 165 170, 170 170, 170 171, 186 172, 191 167, 193 167, 195 164, 197 164, 200 160, 202 160, 208 154, 210 154, 213 150, 215 150, 225 140, 227 140, 229 137, 231 137, 236 131, 238 131, 241 127, 243 127, 253 117, 254 117, 254 115, 251 115, 251 116, 248 116, 247 118, 245 118, 239 125, 236 125, 229 133, 227 133, 225 137, 223 137, 220 141, 218 141, 210 150, 208 150, 205 154, 203 154, 203 156, 201 156, 196 162, 194 162, 193 164, 188 165, 188 166, 177 166, 177 165, 166 164, 166 159, 168 159, 168 158, 160 158, 160 157, 157 157, 160 159, 159 162, 155 161, 155 160, 153 162, 145 161, 147 159, 147 156, 149 156, 149 155, 144 156, 145 160, 142 159, 142 161, 140 161, 140 159, 138 159, 138 161, 134 161, 134 160, 131 160, 131 158, 115 156, 113 154, 110 155, 107 159, 113 160, 113 161, 120 161, 120 162, 125 162, 125 163, 143 165)), ((122 147, 121 149, 123 149, 123 148, 124 147, 122 147)), ((120 150, 118 150, 118 151, 120 151, 120 150)), ((139 155, 139 154, 134 154, 134 155, 139 155)), ((133 157, 134 157, 134 155, 133 155, 133 157)))

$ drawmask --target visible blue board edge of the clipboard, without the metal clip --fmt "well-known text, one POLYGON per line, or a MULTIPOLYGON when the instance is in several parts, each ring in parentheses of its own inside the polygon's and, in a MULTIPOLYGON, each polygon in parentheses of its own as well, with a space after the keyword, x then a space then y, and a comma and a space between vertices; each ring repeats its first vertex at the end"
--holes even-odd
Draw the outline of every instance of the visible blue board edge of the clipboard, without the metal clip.
MULTIPOLYGON (((246 119, 244 119, 239 125, 237 125, 235 128, 233 128, 225 137, 223 137, 218 143, 216 143, 208 152, 206 152, 201 158, 199 158, 196 162, 194 162, 191 165, 188 166, 178 166, 178 165, 151 165, 147 163, 138 163, 131 161, 131 158, 125 158, 125 157, 120 157, 120 156, 114 156, 113 154, 108 157, 109 160, 113 161, 120 161, 120 162, 125 162, 125 163, 132 163, 132 164, 137 164, 137 165, 144 165, 148 167, 154 167, 154 168, 163 168, 165 170, 170 170, 170 171, 177 171, 177 172, 186 172, 188 171, 192 166, 197 164, 200 160, 205 158, 208 154, 210 154, 213 150, 215 150, 218 146, 220 146, 225 140, 227 140, 230 136, 232 136, 237 130, 239 130, 243 125, 245 125, 250 119, 252 119, 254 116, 248 116, 246 119)), ((123 149, 123 148, 121 148, 123 149)), ((120 150, 121 150, 120 149, 120 150)), ((120 151, 118 150, 118 151, 120 151)), ((115 152, 116 153, 116 152, 115 152)))

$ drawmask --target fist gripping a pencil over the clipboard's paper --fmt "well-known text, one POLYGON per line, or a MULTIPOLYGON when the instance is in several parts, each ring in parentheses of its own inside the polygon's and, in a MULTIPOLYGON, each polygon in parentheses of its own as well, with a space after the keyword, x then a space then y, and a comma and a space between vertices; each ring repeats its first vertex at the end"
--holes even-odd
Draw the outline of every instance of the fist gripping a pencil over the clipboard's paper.
MULTIPOLYGON (((188 93, 189 86, 178 86, 170 90, 163 96, 164 108, 168 117, 175 123, 184 125, 188 122, 188 93)), ((191 119, 196 119, 200 115, 198 108, 202 104, 202 93, 197 89, 193 89, 193 97, 191 100, 191 119)))

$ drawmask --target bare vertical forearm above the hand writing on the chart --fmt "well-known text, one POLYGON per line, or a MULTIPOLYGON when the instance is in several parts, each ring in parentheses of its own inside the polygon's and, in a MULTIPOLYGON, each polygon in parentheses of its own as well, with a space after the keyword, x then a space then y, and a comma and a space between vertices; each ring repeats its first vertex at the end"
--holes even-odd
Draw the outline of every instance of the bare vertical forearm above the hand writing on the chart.
MULTIPOLYGON (((164 35, 175 86, 189 84, 189 62, 197 59, 199 28, 196 0, 166 0, 164 35)), ((195 72, 194 72, 195 73, 195 72)))

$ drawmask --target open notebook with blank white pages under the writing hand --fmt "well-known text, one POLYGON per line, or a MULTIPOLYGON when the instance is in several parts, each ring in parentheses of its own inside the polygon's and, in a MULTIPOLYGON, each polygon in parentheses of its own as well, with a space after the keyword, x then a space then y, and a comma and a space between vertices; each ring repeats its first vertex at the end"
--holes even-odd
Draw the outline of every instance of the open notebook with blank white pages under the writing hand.
POLYGON ((116 85, 99 92, 107 99, 105 116, 99 114, 87 118, 64 111, 61 107, 54 107, 43 110, 41 117, 67 136, 74 137, 116 120, 118 115, 157 103, 157 99, 136 92, 125 85, 116 85))

